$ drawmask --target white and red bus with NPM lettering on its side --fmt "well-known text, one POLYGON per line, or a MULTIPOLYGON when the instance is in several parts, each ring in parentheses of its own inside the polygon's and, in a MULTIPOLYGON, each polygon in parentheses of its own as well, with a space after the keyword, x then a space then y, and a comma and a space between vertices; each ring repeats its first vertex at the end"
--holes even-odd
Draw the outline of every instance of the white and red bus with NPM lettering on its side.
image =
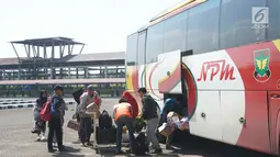
POLYGON ((187 0, 127 37, 126 88, 163 108, 181 94, 189 132, 267 154, 280 147, 280 0, 187 0))

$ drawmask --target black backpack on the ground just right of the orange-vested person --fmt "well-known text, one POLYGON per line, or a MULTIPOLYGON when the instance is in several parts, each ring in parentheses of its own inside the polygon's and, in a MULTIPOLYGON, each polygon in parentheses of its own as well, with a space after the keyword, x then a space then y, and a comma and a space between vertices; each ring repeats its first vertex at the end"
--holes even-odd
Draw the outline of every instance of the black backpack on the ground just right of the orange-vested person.
POLYGON ((147 152, 148 144, 146 141, 146 136, 144 133, 139 133, 133 143, 132 153, 136 156, 143 156, 146 155, 147 152))

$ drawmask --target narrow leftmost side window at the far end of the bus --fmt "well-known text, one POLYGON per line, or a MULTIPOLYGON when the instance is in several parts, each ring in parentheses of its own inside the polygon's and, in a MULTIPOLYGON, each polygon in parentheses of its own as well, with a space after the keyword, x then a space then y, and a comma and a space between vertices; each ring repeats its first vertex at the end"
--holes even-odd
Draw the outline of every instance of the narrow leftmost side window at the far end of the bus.
POLYGON ((127 66, 135 66, 137 61, 137 41, 138 33, 134 33, 127 37, 125 63, 127 66))

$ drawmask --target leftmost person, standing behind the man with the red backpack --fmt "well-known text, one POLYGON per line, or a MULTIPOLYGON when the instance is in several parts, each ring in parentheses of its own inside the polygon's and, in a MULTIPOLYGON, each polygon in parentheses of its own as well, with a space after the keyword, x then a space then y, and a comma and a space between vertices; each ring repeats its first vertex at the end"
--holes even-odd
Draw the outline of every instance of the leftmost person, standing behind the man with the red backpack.
POLYGON ((37 141, 45 141, 45 131, 46 131, 46 122, 42 121, 40 117, 40 112, 43 105, 47 101, 47 91, 42 90, 40 92, 40 98, 36 100, 34 112, 34 120, 35 120, 35 127, 33 128, 32 133, 37 133, 37 141), (42 135, 42 136, 41 136, 42 135))

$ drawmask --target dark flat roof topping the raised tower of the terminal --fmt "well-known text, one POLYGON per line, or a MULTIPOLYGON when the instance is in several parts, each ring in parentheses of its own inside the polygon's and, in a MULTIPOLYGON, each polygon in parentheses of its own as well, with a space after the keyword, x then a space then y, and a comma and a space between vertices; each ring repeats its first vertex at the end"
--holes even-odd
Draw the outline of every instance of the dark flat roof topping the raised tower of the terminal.
POLYGON ((24 41, 13 41, 12 44, 23 44, 32 46, 60 46, 60 45, 83 45, 83 43, 75 42, 74 38, 68 37, 46 37, 46 38, 33 38, 24 41))

